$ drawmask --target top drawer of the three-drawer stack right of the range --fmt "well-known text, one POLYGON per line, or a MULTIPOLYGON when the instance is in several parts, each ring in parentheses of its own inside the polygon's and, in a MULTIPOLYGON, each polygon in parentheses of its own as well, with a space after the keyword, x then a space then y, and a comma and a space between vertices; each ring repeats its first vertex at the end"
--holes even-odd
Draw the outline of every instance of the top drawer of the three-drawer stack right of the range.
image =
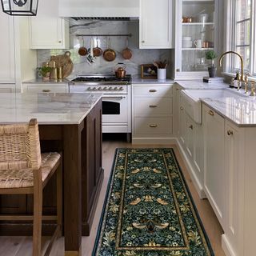
POLYGON ((134 96, 145 97, 171 97, 173 94, 172 86, 143 85, 134 86, 134 96))

